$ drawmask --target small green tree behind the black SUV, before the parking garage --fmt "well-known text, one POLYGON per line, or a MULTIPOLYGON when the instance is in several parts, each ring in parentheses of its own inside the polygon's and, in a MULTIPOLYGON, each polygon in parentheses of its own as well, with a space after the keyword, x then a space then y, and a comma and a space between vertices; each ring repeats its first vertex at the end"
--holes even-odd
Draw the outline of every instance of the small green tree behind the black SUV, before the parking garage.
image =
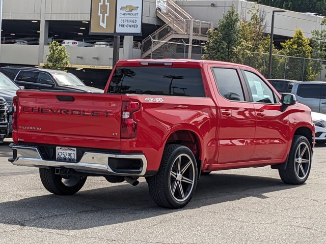
POLYGON ((53 41, 49 44, 49 55, 46 57, 46 69, 66 71, 69 66, 69 53, 66 47, 60 46, 60 43, 53 41))

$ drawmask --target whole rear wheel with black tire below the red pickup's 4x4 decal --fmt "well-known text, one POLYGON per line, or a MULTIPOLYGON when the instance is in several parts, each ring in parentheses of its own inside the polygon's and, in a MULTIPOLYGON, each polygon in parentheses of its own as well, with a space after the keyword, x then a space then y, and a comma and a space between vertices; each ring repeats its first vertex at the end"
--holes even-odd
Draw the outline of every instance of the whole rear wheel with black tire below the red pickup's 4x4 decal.
POLYGON ((167 145, 157 174, 148 177, 149 193, 159 206, 182 208, 195 192, 197 175, 192 151, 183 145, 167 145))

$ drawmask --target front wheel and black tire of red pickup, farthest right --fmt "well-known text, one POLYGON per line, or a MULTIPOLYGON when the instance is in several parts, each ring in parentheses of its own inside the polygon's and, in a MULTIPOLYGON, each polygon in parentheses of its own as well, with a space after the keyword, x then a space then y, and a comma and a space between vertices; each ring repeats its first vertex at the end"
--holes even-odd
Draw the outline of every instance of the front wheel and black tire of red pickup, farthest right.
POLYGON ((289 158, 285 170, 279 169, 282 181, 286 184, 301 185, 309 176, 312 150, 308 139, 304 136, 293 137, 289 158), (301 155, 299 157, 299 155, 301 155))

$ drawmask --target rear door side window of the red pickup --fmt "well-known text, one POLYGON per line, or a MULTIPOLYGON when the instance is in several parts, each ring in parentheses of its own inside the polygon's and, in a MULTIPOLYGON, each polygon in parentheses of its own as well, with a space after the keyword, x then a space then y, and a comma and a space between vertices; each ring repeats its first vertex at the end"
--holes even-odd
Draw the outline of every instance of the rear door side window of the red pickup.
POLYGON ((212 70, 221 96, 228 100, 244 101, 243 89, 236 70, 226 68, 212 70))

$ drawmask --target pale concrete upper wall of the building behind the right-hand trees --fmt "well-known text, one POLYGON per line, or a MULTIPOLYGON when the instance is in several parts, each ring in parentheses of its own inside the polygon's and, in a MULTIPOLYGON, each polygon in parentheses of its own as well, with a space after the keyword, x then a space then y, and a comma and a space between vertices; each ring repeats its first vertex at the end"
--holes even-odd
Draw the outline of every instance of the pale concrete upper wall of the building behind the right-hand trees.
MULTIPOLYGON (((270 33, 271 13, 273 10, 278 10, 277 8, 263 6, 253 2, 231 0, 177 1, 176 3, 182 7, 182 9, 192 15, 193 18, 213 22, 215 27, 217 20, 223 17, 223 13, 228 11, 228 9, 232 6, 232 3, 235 4, 238 12, 240 13, 240 17, 243 19, 250 18, 248 11, 253 9, 253 7, 259 8, 261 11, 266 13, 267 33, 270 33), (214 4, 214 7, 211 7, 212 3, 214 4)), ((276 13, 274 33, 280 36, 292 37, 294 30, 296 28, 301 28, 305 33, 305 36, 310 38, 312 37, 311 31, 313 29, 321 28, 321 21, 322 18, 320 17, 309 16, 293 11, 287 11, 287 13, 276 13)))

